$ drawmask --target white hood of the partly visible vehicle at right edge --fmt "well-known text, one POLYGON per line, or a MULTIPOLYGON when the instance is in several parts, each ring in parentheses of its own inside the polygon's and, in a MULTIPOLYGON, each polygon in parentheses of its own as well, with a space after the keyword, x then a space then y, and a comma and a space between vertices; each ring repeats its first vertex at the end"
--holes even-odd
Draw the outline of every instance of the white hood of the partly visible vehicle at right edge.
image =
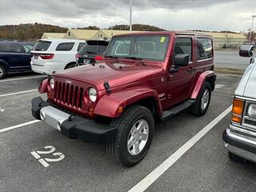
POLYGON ((235 94, 248 98, 256 98, 256 63, 252 63, 246 68, 238 84, 238 88, 235 90, 235 94))

